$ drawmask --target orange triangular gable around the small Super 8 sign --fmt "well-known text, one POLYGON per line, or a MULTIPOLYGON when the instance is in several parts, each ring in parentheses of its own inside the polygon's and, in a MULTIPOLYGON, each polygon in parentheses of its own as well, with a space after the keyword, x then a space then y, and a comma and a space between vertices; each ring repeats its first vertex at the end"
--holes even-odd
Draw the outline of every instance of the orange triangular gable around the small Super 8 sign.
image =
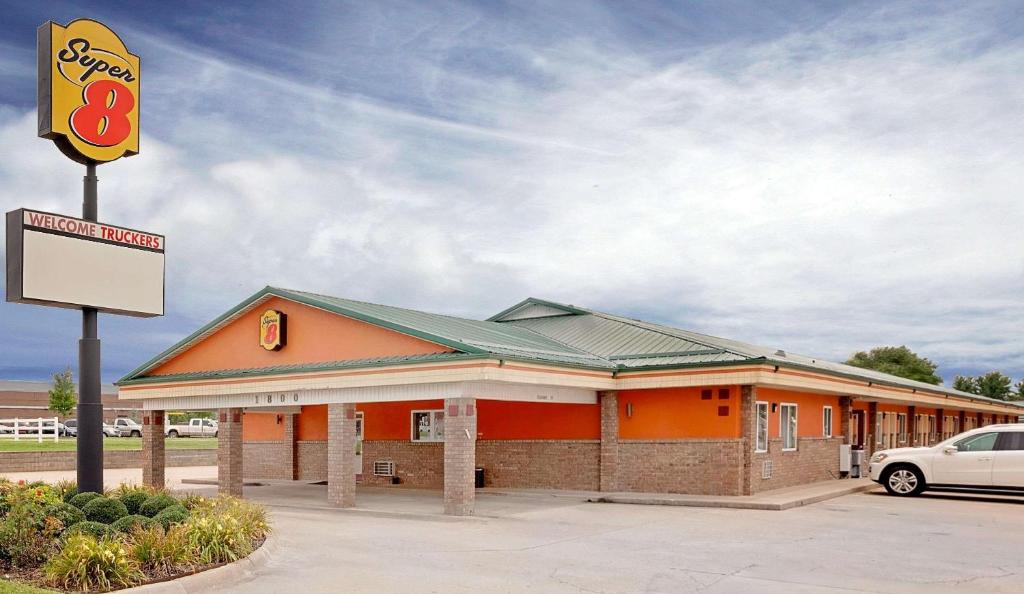
POLYGON ((412 336, 274 297, 152 373, 166 375, 250 369, 451 350, 412 336), (267 309, 278 309, 288 314, 288 344, 279 351, 268 351, 259 346, 259 316, 267 309))

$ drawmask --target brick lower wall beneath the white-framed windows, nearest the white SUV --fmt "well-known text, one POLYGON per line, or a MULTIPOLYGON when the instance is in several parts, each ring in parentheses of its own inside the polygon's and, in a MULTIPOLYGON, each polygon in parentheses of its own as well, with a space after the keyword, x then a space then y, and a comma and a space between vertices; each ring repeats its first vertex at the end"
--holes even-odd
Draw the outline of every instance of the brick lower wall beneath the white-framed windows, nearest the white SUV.
POLYGON ((799 437, 795 452, 782 452, 781 439, 769 439, 768 452, 755 453, 751 466, 751 491, 758 493, 839 478, 839 447, 842 437, 799 437), (761 478, 764 462, 772 461, 772 477, 761 478))

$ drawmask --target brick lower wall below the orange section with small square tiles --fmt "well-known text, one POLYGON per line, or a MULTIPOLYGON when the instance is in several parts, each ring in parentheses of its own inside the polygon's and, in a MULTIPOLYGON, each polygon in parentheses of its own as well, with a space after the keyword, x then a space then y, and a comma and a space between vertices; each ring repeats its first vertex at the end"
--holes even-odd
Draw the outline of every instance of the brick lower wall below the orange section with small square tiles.
POLYGON ((618 441, 618 489, 690 495, 739 495, 740 439, 618 441))

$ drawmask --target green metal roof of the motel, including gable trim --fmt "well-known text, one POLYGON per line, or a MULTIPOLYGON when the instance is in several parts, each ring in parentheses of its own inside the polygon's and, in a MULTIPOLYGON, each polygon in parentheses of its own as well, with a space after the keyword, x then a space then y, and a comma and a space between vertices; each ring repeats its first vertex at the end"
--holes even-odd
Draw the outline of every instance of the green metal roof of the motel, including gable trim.
POLYGON ((543 299, 526 299, 487 321, 479 321, 275 287, 266 287, 252 295, 174 346, 132 370, 118 384, 236 378, 482 357, 610 372, 765 363, 819 371, 879 384, 941 392, 961 398, 1013 404, 907 380, 872 370, 543 299), (150 374, 153 369, 164 362, 183 352, 196 342, 272 297, 281 297, 420 338, 453 349, 455 352, 440 352, 439 349, 439 352, 436 353, 410 356, 385 356, 165 376, 150 374))

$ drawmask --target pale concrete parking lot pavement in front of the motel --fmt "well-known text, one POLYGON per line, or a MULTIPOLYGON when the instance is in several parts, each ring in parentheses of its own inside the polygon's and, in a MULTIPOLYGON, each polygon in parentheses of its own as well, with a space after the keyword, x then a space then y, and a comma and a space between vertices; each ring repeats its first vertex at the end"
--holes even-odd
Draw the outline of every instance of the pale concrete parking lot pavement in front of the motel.
POLYGON ((223 591, 1022 592, 1022 502, 863 494, 779 512, 539 501, 473 521, 275 507, 273 559, 223 591))

